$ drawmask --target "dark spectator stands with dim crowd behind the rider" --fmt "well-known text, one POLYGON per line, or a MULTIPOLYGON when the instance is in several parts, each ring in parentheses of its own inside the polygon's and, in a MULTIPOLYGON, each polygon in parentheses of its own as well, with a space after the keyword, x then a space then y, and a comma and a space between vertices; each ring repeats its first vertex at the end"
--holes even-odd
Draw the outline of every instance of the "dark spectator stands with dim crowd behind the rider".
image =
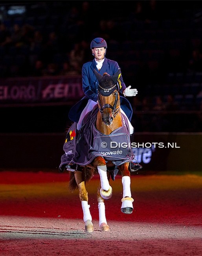
POLYGON ((81 75, 91 40, 103 37, 107 58, 139 91, 135 111, 202 110, 200 2, 28 4, 24 15, 0 21, 0 77, 81 75))

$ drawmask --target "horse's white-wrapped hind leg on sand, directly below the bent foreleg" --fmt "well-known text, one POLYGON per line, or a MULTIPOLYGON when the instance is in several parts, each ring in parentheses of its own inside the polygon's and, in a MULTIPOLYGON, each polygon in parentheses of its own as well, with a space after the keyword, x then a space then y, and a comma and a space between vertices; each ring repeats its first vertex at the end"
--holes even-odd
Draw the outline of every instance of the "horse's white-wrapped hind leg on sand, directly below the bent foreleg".
MULTIPOLYGON (((110 178, 110 173, 107 173, 108 180, 110 178)), ((99 226, 101 231, 108 231, 110 228, 107 224, 107 219, 105 215, 105 202, 104 199, 101 197, 100 194, 101 185, 99 185, 97 189, 97 202, 98 202, 98 209, 99 209, 99 226)))

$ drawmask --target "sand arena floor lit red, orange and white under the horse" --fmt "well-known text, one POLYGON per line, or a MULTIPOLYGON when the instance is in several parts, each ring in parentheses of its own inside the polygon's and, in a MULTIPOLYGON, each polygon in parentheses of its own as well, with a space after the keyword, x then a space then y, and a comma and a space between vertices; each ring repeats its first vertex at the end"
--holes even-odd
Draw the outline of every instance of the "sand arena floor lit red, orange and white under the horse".
POLYGON ((0 255, 202 255, 202 177, 132 176, 134 211, 121 212, 122 184, 105 201, 109 232, 98 224, 95 175, 87 185, 94 233, 84 232, 69 174, 0 172, 0 255))

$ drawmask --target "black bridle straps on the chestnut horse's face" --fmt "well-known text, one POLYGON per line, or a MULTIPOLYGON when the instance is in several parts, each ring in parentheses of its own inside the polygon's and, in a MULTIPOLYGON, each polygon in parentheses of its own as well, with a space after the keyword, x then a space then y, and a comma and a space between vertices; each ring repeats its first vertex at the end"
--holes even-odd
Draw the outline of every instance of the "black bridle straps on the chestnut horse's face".
MULTIPOLYGON (((112 88, 104 89, 104 88, 102 88, 102 87, 99 85, 99 87, 100 87, 101 89, 103 89, 105 93, 106 93, 106 92, 109 92, 109 91, 112 90, 112 89, 114 89, 115 86, 117 86, 117 85, 115 84, 112 88)), ((114 91, 114 90, 113 90, 113 91, 114 91)), ((112 115, 113 115, 113 117, 116 117, 116 115, 117 115, 117 114, 119 113, 119 111, 120 111, 120 106, 119 106, 118 108, 116 108, 117 102, 118 102, 118 96, 119 96, 118 91, 115 92, 115 100, 114 100, 114 105, 113 105, 113 106, 112 106, 111 104, 105 104, 104 106, 102 106, 102 105, 101 105, 101 101, 100 101, 100 95, 103 95, 103 94, 101 94, 101 93, 98 92, 98 94, 97 94, 97 101, 98 101, 98 103, 99 103, 99 111, 100 111, 100 113, 101 113, 101 116, 103 117, 103 114, 104 114, 103 109, 105 109, 105 108, 111 108, 111 109, 112 109, 112 115)), ((105 95, 103 95, 103 96, 105 96, 105 95)))

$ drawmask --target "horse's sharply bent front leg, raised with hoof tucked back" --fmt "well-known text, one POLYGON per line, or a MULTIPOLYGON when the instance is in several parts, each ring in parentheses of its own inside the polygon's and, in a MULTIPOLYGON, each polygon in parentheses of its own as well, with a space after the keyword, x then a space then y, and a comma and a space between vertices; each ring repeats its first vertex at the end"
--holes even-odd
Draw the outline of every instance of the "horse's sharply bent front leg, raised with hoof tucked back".
POLYGON ((101 156, 98 156, 94 159, 93 166, 97 168, 97 171, 100 176, 100 194, 101 197, 104 199, 110 199, 112 197, 112 187, 109 184, 108 178, 107 178, 107 165, 105 162, 105 159, 101 156))

